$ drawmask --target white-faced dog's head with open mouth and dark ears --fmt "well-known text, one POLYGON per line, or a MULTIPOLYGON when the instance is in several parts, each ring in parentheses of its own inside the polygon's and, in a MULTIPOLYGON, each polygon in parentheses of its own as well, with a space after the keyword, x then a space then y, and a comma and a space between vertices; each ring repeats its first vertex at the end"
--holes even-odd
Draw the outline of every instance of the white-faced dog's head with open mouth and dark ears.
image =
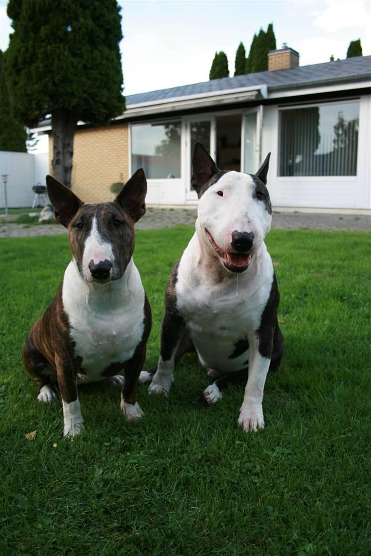
POLYGON ((197 233, 229 272, 248 269, 270 230, 269 156, 254 175, 221 171, 205 147, 195 145, 192 185, 200 200, 197 233))

